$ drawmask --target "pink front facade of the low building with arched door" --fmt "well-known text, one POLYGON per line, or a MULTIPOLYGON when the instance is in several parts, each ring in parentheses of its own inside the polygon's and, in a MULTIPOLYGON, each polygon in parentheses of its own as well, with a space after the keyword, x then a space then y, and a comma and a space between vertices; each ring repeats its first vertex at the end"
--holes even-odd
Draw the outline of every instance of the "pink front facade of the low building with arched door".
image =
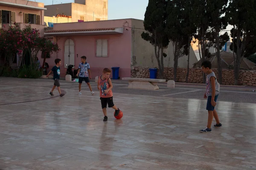
MULTIPOLYGON (((131 26, 131 19, 126 20, 131 26)), ((61 48, 57 58, 62 60, 61 77, 65 76, 66 64, 75 68, 85 55, 90 64, 92 77, 102 73, 104 68, 120 67, 119 77, 131 74, 131 28, 124 27, 125 20, 106 20, 83 23, 54 24, 47 36, 56 38, 61 48)), ((55 56, 55 54, 53 54, 55 56)), ((54 65, 55 57, 46 60, 54 65)))

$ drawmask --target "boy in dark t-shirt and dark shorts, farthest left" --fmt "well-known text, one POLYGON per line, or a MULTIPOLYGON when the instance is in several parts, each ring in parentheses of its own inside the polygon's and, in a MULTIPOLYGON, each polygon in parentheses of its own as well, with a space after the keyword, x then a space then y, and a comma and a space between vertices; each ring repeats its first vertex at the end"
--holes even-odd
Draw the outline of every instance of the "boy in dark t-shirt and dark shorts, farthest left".
POLYGON ((55 59, 54 62, 56 65, 52 68, 52 70, 46 76, 46 77, 48 77, 53 72, 54 84, 52 87, 52 91, 50 92, 50 95, 54 96, 54 94, 52 92, 54 91, 55 87, 57 86, 58 92, 59 92, 60 96, 62 97, 65 94, 61 93, 60 82, 59 82, 60 74, 61 74, 61 71, 60 71, 61 59, 55 59))

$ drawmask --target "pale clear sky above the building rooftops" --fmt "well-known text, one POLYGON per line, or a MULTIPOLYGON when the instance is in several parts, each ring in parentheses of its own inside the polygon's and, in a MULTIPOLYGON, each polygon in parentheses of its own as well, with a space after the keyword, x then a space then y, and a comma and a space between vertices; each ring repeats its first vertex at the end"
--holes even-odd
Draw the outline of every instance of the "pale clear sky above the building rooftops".
MULTIPOLYGON (((36 0, 52 5, 52 0, 36 0)), ((73 0, 53 0, 53 4, 72 3, 73 0)), ((144 20, 148 0, 108 0, 108 20, 134 18, 144 20)))

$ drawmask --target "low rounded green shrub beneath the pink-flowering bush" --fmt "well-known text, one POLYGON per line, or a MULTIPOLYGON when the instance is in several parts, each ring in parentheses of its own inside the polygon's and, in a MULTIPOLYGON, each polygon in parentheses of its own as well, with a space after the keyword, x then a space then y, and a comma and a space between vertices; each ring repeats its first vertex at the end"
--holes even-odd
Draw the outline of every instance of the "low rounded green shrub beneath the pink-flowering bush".
POLYGON ((42 72, 39 71, 36 66, 32 65, 25 65, 24 67, 20 68, 19 70, 19 78, 29 78, 29 79, 37 79, 42 76, 42 72))

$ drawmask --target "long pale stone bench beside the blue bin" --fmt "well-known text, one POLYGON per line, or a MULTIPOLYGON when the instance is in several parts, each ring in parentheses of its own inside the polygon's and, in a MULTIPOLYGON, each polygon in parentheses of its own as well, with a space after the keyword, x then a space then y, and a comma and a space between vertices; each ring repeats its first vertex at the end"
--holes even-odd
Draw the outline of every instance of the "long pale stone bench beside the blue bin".
POLYGON ((130 78, 125 77, 122 80, 128 80, 128 88, 158 90, 158 82, 166 82, 166 79, 143 79, 143 78, 130 78))

